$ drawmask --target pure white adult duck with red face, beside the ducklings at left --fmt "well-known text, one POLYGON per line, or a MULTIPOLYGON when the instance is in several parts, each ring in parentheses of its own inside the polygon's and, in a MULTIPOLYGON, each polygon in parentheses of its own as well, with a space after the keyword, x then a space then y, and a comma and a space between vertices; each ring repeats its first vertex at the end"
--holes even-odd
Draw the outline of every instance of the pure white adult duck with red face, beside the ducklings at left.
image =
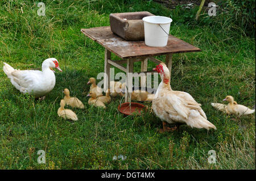
POLYGON ((34 95, 36 98, 46 95, 55 86, 55 74, 51 68, 62 71, 56 58, 44 60, 42 71, 16 70, 5 62, 3 64, 3 71, 13 86, 23 94, 34 95))

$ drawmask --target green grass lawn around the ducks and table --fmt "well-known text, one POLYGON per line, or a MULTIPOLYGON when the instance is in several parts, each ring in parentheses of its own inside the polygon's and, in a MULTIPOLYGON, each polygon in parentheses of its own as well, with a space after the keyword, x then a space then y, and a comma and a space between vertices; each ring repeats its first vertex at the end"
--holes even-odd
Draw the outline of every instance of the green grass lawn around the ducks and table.
MULTIPOLYGON (((203 15, 195 22, 189 16, 195 17, 197 8, 168 10, 151 1, 59 0, 44 1, 42 17, 36 14, 36 3, 0 2, 0 63, 31 69, 55 57, 63 72, 55 74, 55 88, 46 100, 38 101, 20 94, 0 70, 1 169, 255 169, 255 113, 233 121, 210 106, 226 95, 250 108, 255 104, 255 39, 225 14, 203 15), (82 92, 89 90, 90 77, 104 71, 104 48, 80 30, 109 26, 109 13, 127 11, 170 16, 171 34, 202 50, 174 54, 171 86, 201 103, 217 131, 183 125, 179 132, 160 134, 156 129, 162 122, 153 113, 123 117, 118 98, 106 110, 88 104, 82 92), (75 109, 76 122, 57 116, 64 88, 85 105, 85 110, 75 109), (46 151, 46 164, 38 164, 38 150, 46 151), (216 151, 216 164, 208 163, 209 150, 216 151), (119 154, 125 161, 112 160, 119 154)), ((139 67, 138 62, 135 71, 139 67)))

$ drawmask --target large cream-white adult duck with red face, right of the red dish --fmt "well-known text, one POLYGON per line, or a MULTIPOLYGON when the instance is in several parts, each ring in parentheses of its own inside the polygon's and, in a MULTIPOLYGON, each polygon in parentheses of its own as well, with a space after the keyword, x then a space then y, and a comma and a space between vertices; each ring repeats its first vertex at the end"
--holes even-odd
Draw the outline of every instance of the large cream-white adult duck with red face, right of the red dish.
POLYGON ((187 124, 190 127, 216 129, 207 120, 207 116, 193 97, 187 92, 173 91, 170 86, 170 71, 164 63, 156 66, 155 69, 160 74, 162 82, 152 101, 152 109, 156 116, 163 121, 163 132, 174 129, 166 127, 166 122, 170 124, 187 124))

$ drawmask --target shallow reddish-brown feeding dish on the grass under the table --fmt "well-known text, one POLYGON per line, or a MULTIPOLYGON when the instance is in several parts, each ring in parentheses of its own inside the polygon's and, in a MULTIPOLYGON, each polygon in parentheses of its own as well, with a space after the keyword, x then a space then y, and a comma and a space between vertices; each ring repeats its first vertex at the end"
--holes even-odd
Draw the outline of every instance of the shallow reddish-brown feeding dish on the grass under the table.
POLYGON ((139 103, 122 103, 118 106, 118 111, 125 115, 131 115, 133 112, 138 112, 141 114, 141 111, 145 108, 143 104, 139 103))

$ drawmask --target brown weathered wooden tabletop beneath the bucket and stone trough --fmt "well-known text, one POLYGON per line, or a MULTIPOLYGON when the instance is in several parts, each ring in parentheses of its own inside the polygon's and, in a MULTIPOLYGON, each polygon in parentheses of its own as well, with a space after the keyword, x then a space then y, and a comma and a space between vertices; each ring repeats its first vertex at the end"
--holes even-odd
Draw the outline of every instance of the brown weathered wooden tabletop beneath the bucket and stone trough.
POLYGON ((157 56, 169 53, 199 52, 199 48, 169 35, 166 47, 148 47, 144 41, 126 41, 115 35, 110 27, 81 29, 90 39, 101 44, 120 58, 157 56))

